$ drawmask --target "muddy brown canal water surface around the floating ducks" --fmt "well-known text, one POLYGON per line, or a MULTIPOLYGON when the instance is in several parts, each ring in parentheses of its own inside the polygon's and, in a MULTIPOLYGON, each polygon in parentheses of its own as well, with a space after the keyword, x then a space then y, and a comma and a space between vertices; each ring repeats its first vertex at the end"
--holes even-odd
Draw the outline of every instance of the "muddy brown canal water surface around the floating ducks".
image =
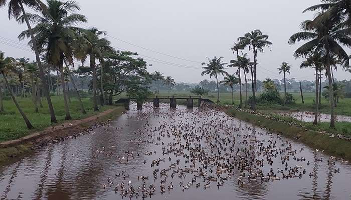
MULTIPOLYGON (((335 164, 327 164, 330 156, 321 151, 315 151, 306 145, 292 141, 288 138, 267 132, 257 126, 238 120, 216 110, 187 110, 184 106, 178 106, 175 110, 170 110, 168 104, 161 104, 160 109, 153 109, 150 104, 144 106, 142 111, 137 111, 132 105, 131 110, 125 114, 112 119, 105 126, 94 128, 89 134, 81 135, 77 138, 67 139, 61 143, 50 144, 31 154, 17 158, 10 162, 2 163, 0 168, 0 199, 122 199, 121 191, 114 191, 117 184, 122 182, 128 188, 128 181, 135 189, 143 184, 138 179, 139 175, 149 176, 146 187, 150 184, 155 187, 155 193, 151 198, 147 195, 145 199, 350 199, 351 193, 351 166, 342 159, 332 160, 335 164), (161 130, 158 128, 161 127, 161 130), (183 130, 182 128, 183 127, 183 130), (199 131, 207 128, 207 132, 199 131), (170 136, 167 136, 167 131, 170 136), (159 133, 165 136, 160 136, 159 133), (181 135, 179 135, 181 133, 181 135), (306 173, 299 177, 289 179, 249 181, 247 175, 242 178, 245 184, 238 183, 238 177, 242 175, 238 167, 233 167, 233 175, 223 172, 221 177, 228 177, 223 186, 218 187, 217 182, 211 181, 210 187, 204 188, 206 182, 203 177, 197 177, 196 181, 190 185, 189 189, 182 189, 180 181, 186 185, 197 172, 185 172, 185 177, 180 178, 175 172, 171 178, 171 171, 181 167, 183 169, 193 164, 185 163, 188 160, 184 154, 190 155, 187 148, 182 148, 184 154, 179 156, 174 153, 162 154, 162 147, 170 149, 167 144, 177 143, 173 148, 181 149, 181 145, 186 145, 184 134, 197 135, 196 139, 190 142, 189 147, 199 146, 208 156, 222 152, 222 156, 233 161, 244 156, 244 152, 237 154, 236 149, 247 147, 251 155, 255 154, 256 159, 263 159, 264 166, 254 166, 255 170, 262 170, 266 175, 273 169, 276 176, 282 177, 277 168, 284 169, 281 156, 288 155, 288 151, 278 153, 276 157, 271 156, 272 165, 267 163, 267 154, 257 153, 261 151, 259 144, 263 147, 275 144, 272 149, 285 149, 291 144, 288 169, 295 165, 301 165, 301 172, 306 169, 306 173), (183 136, 182 136, 183 135, 183 136), (227 153, 219 148, 211 148, 209 142, 205 142, 205 136, 210 136, 212 144, 226 147, 227 153), (160 140, 157 139, 160 137, 160 140), (215 138, 217 138, 217 143, 215 138), (235 142, 234 142, 235 138, 235 142), (174 139, 174 140, 173 140, 174 139), (223 140, 222 140, 223 139, 223 140), (226 142, 224 142, 226 141, 226 142), (270 143, 272 141, 272 143, 270 143), (276 141, 276 143, 275 143, 276 141), (162 142, 164 145, 162 145, 162 142), (247 142, 247 143, 246 143, 247 142), (159 144, 158 144, 159 143, 159 144), (284 146, 282 146, 284 144, 284 146), (229 150, 232 146, 233 151, 229 150), (303 149, 300 151, 300 149, 303 149), (98 152, 98 151, 103 152, 98 152), (312 152, 312 150, 314 152, 312 152), (134 159, 128 158, 124 151, 133 151, 134 159), (154 153, 155 151, 155 153, 154 153), (112 155, 107 155, 106 153, 112 155), (146 155, 146 152, 152 152, 146 155), (255 153, 256 152, 256 153, 255 153), (137 155, 139 153, 139 155, 137 155), (72 154, 78 154, 72 156, 72 154), (97 155, 97 157, 96 157, 97 155), (124 156, 124 159, 123 159, 124 156), (297 161, 293 157, 305 157, 305 161, 297 161), (171 160, 168 160, 168 157, 171 160), (152 160, 161 158, 159 165, 151 166, 152 160), (163 158, 164 161, 162 160, 163 158), (315 161, 322 158, 322 161, 315 161), (180 162, 176 168, 171 168, 166 173, 168 177, 164 183, 166 189, 160 193, 160 177, 157 172, 157 179, 153 179, 154 169, 169 168, 171 163, 180 162), (144 163, 145 160, 145 163, 144 163), (307 165, 307 161, 310 162, 307 165), (339 168, 339 172, 335 169, 339 168), (129 175, 125 179, 115 174, 122 173, 129 175), (309 173, 316 176, 309 176, 309 173), (110 181, 108 181, 110 177, 110 181), (110 186, 109 182, 113 182, 110 186), (167 186, 172 182, 173 189, 168 190, 167 186), (196 183, 200 187, 196 188, 196 183), (104 184, 106 184, 104 188, 104 184)), ((212 145, 212 147, 213 147, 212 145)), ((262 147, 261 146, 261 147, 262 147)), ((274 155, 276 153, 272 153, 274 155)), ((224 160, 220 162, 225 162, 224 160)), ((194 160, 193 169, 202 168, 207 172, 207 176, 215 175, 216 168, 208 166, 204 168, 199 160, 194 160), (213 170, 211 172, 210 170, 213 170)), ((212 164, 214 162, 211 162, 212 164)), ((233 164, 234 166, 234 164, 233 164)), ((247 171, 243 171, 248 174, 247 171)), ((283 173, 287 173, 284 170, 283 173)), ((120 187, 120 186, 117 186, 120 187)), ((123 199, 130 199, 124 196, 123 199)), ((138 198, 142 199, 141 192, 138 198)))

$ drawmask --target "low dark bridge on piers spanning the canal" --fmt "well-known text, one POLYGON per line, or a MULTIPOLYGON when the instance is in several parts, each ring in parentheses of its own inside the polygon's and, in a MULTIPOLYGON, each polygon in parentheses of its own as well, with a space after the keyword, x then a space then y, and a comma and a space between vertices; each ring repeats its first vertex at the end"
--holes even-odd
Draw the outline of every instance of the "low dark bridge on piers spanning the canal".
MULTIPOLYGON (((115 103, 123 103, 125 109, 129 110, 130 100, 134 100, 136 97, 128 96, 128 97, 121 97, 115 101, 115 103)), ((199 107, 203 103, 214 103, 212 100, 208 98, 202 98, 202 96, 149 96, 147 97, 148 100, 153 99, 153 106, 159 107, 159 100, 160 99, 169 99, 169 107, 170 108, 177 108, 177 99, 186 99, 187 100, 187 108, 192 109, 194 107, 194 99, 199 101, 199 107)), ((142 103, 136 102, 136 108, 142 109, 142 103)))

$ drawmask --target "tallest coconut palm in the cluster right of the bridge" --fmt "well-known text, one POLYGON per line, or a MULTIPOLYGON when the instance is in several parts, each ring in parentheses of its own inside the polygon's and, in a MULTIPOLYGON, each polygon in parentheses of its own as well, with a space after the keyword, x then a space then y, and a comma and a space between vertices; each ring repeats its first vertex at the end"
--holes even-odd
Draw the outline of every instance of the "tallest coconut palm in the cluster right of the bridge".
POLYGON ((272 42, 268 41, 268 35, 263 34, 261 30, 256 29, 251 32, 247 32, 244 36, 239 37, 238 40, 242 45, 249 46, 249 50, 254 53, 254 65, 251 73, 252 78, 252 103, 251 109, 256 109, 256 65, 257 65, 257 51, 263 52, 264 47, 269 47, 272 42))

